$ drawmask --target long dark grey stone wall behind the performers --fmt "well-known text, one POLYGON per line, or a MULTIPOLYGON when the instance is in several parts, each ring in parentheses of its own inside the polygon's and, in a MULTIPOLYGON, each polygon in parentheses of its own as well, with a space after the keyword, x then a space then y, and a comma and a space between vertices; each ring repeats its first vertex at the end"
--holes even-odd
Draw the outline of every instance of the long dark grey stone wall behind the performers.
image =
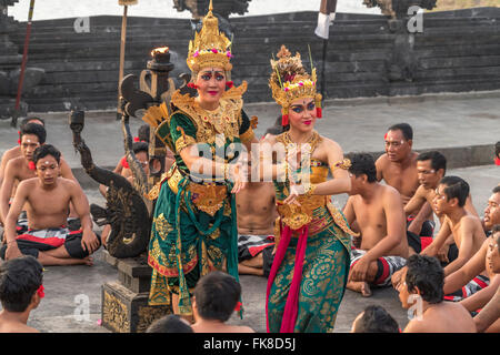
MULTIPOLYGON (((500 9, 431 12, 423 33, 397 30, 383 16, 339 13, 330 30, 328 98, 407 95, 500 89, 500 9)), ((74 19, 36 21, 29 64, 46 70, 42 83, 24 95, 31 112, 112 109, 117 104, 120 17, 90 19, 89 33, 76 33, 74 19)), ((282 43, 300 51, 309 68, 308 44, 318 73, 323 42, 313 34, 316 12, 233 18, 232 80, 249 82, 247 102, 271 101, 267 80, 271 53, 282 43)), ((187 72, 192 38, 189 20, 129 18, 126 74, 146 68, 152 48, 169 45, 174 74, 187 72)), ((10 36, 22 51, 26 23, 10 36)))

